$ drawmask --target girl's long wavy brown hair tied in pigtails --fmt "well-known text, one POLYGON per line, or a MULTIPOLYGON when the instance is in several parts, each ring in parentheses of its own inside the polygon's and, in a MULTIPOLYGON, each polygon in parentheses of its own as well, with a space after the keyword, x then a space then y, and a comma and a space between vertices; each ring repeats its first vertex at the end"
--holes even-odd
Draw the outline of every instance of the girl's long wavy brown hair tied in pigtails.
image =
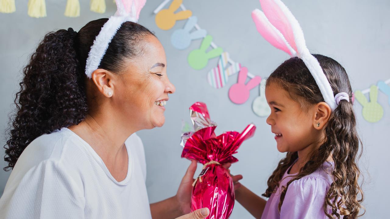
MULTIPOLYGON (((329 218, 356 218, 361 216, 359 210, 363 208, 361 204, 363 191, 358 182, 360 170, 356 164, 362 155, 362 148, 359 148, 362 142, 356 132, 351 84, 345 69, 338 62, 323 55, 314 55, 314 57, 317 58, 328 78, 333 95, 346 92, 349 94, 349 102, 340 101, 324 129, 323 143, 318 150, 312 152, 311 159, 299 173, 287 182, 285 187, 282 187, 278 210, 280 212, 287 189, 294 180, 313 173, 321 168, 328 157, 332 157, 333 183, 326 193, 324 212, 329 218)), ((290 58, 280 65, 269 76, 266 86, 271 83, 280 85, 303 107, 324 102, 316 81, 300 58, 290 58)), ((270 197, 272 193, 275 193, 284 173, 297 158, 297 152, 287 152, 286 157, 278 163, 277 168, 269 177, 268 188, 262 196, 270 197)))

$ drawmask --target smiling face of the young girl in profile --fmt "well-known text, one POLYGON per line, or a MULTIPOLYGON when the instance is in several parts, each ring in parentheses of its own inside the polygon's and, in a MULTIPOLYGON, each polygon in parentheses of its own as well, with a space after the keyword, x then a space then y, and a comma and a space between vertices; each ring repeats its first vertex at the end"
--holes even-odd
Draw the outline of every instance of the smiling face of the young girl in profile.
POLYGON ((265 95, 271 114, 267 124, 275 134, 279 152, 296 152, 316 142, 318 132, 313 127, 314 107, 302 109, 298 101, 277 83, 266 86, 265 95))

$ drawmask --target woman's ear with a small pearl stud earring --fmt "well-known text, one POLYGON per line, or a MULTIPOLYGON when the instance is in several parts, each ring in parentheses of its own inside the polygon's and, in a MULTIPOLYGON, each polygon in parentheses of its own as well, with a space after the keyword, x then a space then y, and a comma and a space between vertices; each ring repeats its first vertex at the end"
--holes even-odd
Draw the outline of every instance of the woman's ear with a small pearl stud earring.
POLYGON ((112 73, 105 69, 96 69, 92 72, 91 79, 97 90, 105 97, 112 97, 114 86, 112 83, 112 73))

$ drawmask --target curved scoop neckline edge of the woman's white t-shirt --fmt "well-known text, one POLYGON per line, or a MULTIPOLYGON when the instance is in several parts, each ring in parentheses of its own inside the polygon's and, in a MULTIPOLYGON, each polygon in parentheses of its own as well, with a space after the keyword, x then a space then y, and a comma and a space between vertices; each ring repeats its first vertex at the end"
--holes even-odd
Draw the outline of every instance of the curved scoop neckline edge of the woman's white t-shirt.
POLYGON ((92 155, 92 157, 95 159, 95 161, 97 162, 97 164, 99 164, 99 166, 103 169, 103 171, 106 173, 106 175, 113 181, 115 182, 115 184, 118 184, 118 185, 127 185, 129 182, 130 182, 130 178, 131 178, 131 173, 133 172, 133 159, 131 158, 131 151, 130 151, 130 147, 128 147, 128 145, 126 145, 126 142, 124 143, 125 147, 126 147, 126 151, 127 151, 127 155, 128 155, 128 168, 127 168, 127 174, 126 174, 126 177, 124 178, 124 180, 122 180, 121 182, 118 182, 113 176, 112 174, 110 173, 110 171, 108 170, 106 164, 103 162, 103 160, 101 159, 101 157, 96 153, 96 151, 89 145, 89 143, 87 143, 86 141, 84 141, 80 136, 78 136, 76 133, 74 133, 72 130, 66 128, 66 127, 63 127, 62 130, 64 131, 67 131, 69 132, 70 134, 72 134, 74 137, 76 137, 81 143, 82 145, 85 146, 85 149, 89 152, 90 155, 92 155))

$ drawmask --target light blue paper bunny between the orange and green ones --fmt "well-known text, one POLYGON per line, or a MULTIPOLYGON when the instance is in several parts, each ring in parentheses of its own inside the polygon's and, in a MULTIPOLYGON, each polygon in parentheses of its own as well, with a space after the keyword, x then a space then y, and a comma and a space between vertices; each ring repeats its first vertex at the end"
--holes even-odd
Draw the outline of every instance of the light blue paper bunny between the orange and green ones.
POLYGON ((186 49, 194 39, 206 37, 206 30, 195 30, 190 33, 198 21, 196 16, 188 18, 183 29, 175 30, 171 35, 171 43, 176 49, 186 49))

